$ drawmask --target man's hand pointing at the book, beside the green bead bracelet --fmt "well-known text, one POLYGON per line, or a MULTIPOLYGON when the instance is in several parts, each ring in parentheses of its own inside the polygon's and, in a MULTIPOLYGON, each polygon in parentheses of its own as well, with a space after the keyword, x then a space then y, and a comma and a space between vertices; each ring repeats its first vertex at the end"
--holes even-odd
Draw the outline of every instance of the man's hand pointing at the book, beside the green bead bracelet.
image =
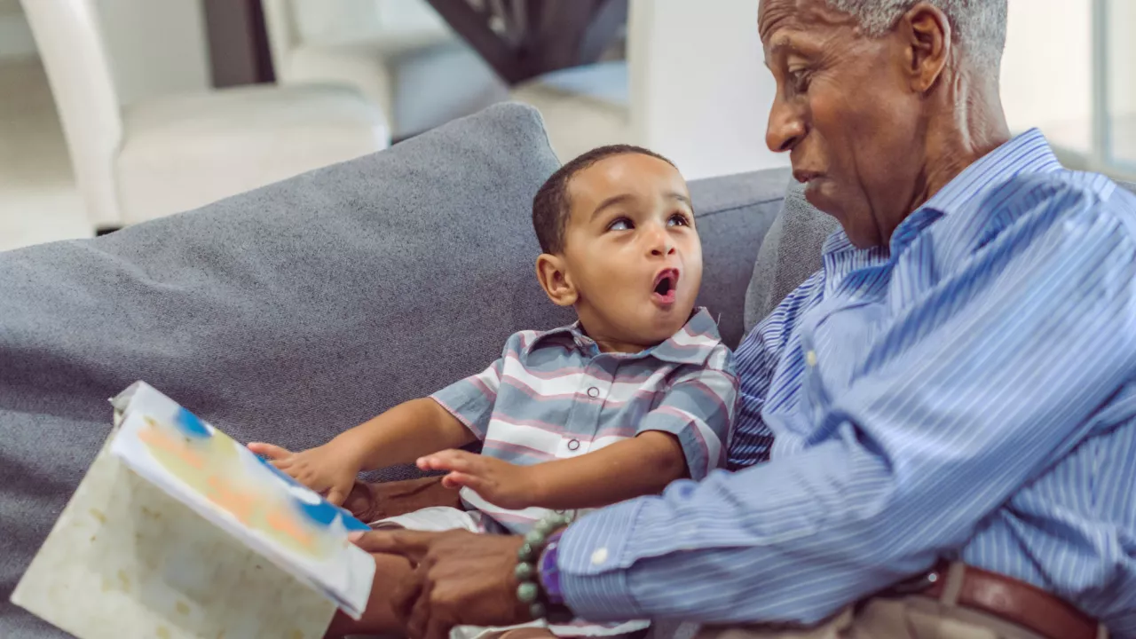
POLYGON ((392 607, 411 639, 446 639, 454 625, 513 625, 532 621, 517 599, 519 536, 467 531, 373 531, 352 538, 368 553, 401 555, 415 573, 392 607))

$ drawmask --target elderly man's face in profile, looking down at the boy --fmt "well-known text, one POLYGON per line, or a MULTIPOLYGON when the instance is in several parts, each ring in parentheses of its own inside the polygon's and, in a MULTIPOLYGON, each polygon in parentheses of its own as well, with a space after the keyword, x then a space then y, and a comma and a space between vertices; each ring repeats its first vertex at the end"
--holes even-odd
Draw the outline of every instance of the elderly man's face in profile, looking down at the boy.
POLYGON ((777 81, 766 142, 788 151, 805 198, 855 246, 886 243, 922 166, 902 39, 862 36, 824 0, 762 0, 758 28, 777 81))

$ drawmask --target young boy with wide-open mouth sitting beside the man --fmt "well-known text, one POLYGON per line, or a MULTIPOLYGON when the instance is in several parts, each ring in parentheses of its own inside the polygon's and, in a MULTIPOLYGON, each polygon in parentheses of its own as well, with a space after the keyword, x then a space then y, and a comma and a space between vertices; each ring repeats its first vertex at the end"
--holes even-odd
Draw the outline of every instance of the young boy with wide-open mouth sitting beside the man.
MULTIPOLYGON (((724 465, 737 381, 713 320, 693 308, 702 248, 678 169, 636 147, 588 151, 541 186, 533 225, 541 285, 579 322, 517 333, 484 372, 318 448, 250 448, 336 504, 360 471, 411 462, 446 471, 443 483, 461 489, 469 511, 426 508, 374 525, 479 532, 523 533, 550 509, 580 514, 724 465), (458 450, 477 440, 481 455, 458 450)), ((331 634, 400 630, 391 594, 410 565, 375 561, 364 620, 339 615, 331 634)))

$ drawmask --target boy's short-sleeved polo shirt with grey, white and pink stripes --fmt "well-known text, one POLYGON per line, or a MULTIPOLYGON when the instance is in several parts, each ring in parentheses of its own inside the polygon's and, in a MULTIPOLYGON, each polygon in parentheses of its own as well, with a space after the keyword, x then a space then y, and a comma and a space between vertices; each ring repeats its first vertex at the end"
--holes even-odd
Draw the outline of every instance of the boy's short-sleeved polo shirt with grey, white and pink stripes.
MULTIPOLYGON (((691 478, 701 480, 726 464, 736 396, 733 354, 700 308, 635 354, 600 352, 579 322, 515 333, 488 368, 432 397, 484 442, 482 455, 540 464, 662 431, 678 438, 691 478)), ((499 508, 469 489, 461 496, 511 532, 548 514, 499 508)))

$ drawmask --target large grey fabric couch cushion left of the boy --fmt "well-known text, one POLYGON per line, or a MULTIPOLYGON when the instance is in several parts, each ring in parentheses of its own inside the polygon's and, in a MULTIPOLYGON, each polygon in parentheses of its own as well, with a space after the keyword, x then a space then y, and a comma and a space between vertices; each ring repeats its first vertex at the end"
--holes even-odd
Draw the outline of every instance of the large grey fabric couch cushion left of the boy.
POLYGON ((0 637, 8 597, 142 379, 242 441, 321 443, 570 315, 533 275, 558 166, 494 107, 387 151, 94 240, 0 252, 0 637))

